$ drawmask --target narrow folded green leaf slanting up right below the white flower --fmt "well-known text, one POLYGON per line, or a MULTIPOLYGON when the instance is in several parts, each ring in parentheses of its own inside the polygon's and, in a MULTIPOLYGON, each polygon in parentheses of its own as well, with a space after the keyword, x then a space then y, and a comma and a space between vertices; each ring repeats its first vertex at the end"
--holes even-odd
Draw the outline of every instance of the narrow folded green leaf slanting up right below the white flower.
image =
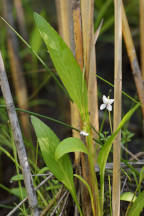
POLYGON ((133 115, 133 113, 136 111, 136 109, 140 106, 139 104, 136 104, 129 112, 126 113, 126 115, 121 120, 117 130, 107 139, 105 145, 101 148, 99 154, 98 154, 98 164, 100 167, 100 197, 101 197, 101 205, 103 206, 104 202, 104 174, 105 174, 105 166, 108 159, 109 152, 112 147, 112 143, 117 136, 120 129, 124 126, 126 121, 133 115))

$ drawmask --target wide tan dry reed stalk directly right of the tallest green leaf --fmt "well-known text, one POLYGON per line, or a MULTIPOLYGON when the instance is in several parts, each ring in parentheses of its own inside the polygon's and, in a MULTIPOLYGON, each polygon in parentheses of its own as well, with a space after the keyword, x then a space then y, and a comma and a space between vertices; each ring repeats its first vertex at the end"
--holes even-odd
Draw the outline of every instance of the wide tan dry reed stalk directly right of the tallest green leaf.
MULTIPOLYGON (((81 0, 82 32, 83 32, 83 55, 85 76, 88 84, 88 105, 90 121, 95 129, 99 130, 98 121, 98 97, 96 80, 96 54, 94 43, 94 1, 81 0)), ((93 134, 94 135, 94 134, 93 134)))

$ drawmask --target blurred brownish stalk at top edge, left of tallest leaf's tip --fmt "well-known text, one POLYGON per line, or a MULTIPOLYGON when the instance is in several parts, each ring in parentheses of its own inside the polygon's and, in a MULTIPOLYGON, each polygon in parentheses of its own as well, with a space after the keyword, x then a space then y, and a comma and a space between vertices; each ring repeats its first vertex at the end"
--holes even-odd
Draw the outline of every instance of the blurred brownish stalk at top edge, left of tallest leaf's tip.
POLYGON ((24 16, 24 11, 23 11, 22 1, 14 0, 14 5, 16 9, 17 22, 19 24, 20 34, 23 36, 25 40, 27 40, 28 34, 26 30, 26 25, 25 25, 25 16, 24 16))

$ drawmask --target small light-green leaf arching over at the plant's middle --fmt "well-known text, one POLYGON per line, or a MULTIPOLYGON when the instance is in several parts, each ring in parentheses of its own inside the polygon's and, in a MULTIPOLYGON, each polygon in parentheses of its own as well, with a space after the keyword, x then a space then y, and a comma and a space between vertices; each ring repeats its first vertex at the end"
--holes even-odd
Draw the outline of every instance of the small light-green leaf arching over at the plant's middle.
POLYGON ((80 139, 69 137, 64 139, 62 142, 60 142, 60 144, 58 145, 55 151, 55 158, 56 160, 58 160, 59 158, 63 157, 67 153, 77 152, 77 151, 88 154, 88 150, 86 146, 80 139))

